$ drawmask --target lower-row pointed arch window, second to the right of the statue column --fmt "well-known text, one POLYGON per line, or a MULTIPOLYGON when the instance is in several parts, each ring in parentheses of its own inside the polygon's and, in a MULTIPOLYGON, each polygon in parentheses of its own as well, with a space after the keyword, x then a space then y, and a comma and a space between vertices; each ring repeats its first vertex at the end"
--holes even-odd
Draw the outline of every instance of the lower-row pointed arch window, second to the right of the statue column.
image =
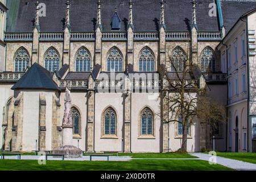
POLYGON ((115 111, 110 107, 104 114, 104 134, 116 135, 117 115, 115 111))

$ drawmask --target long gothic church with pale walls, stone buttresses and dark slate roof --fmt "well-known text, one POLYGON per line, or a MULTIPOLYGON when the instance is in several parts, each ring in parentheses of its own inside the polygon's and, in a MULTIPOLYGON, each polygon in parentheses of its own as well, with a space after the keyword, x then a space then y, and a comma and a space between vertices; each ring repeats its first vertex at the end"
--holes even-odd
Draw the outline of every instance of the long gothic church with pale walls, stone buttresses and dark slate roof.
MULTIPOLYGON (((90 152, 168 152, 181 147, 182 125, 159 116, 160 65, 168 56, 197 64, 202 74, 188 81, 207 86, 210 96, 226 105, 227 72, 217 46, 239 18, 233 14, 245 14, 255 2, 21 0, 8 5, 18 11, 7 14, 1 62, 2 150, 61 146, 69 88, 74 146, 90 152), (216 15, 209 13, 212 3, 216 15)), ((227 150, 227 127, 218 128, 217 150, 227 150)), ((212 148, 209 133, 208 126, 193 122, 188 151, 212 148)))

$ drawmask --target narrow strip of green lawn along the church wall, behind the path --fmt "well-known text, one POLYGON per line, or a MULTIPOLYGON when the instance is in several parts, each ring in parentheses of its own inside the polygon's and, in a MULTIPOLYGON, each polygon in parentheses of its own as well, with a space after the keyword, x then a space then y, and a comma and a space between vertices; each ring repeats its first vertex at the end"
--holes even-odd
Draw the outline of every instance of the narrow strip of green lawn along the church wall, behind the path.
MULTIPOLYGON (((111 154, 110 155, 117 155, 111 154)), ((88 155, 88 154, 85 154, 88 155)), ((196 156, 181 153, 119 153, 118 156, 131 156, 132 158, 165 158, 165 159, 195 159, 196 156)))

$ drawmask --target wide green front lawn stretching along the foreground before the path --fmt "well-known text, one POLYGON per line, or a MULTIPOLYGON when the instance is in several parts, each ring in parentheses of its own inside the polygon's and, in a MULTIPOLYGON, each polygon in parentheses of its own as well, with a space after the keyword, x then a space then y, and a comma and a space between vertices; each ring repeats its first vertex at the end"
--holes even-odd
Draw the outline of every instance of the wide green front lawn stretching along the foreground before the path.
POLYGON ((0 171, 227 171, 203 160, 132 160, 130 162, 0 160, 0 171))

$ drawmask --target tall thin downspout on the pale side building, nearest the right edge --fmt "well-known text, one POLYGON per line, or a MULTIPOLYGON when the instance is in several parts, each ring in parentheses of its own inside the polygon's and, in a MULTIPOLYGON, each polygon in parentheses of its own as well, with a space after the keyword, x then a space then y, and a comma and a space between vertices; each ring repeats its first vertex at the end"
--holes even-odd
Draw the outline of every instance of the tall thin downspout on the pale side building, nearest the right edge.
POLYGON ((240 18, 242 22, 246 23, 246 49, 247 49, 247 90, 248 90, 248 101, 247 101, 247 152, 249 151, 249 119, 250 119, 250 62, 249 62, 249 40, 248 40, 248 20, 243 20, 240 18))

